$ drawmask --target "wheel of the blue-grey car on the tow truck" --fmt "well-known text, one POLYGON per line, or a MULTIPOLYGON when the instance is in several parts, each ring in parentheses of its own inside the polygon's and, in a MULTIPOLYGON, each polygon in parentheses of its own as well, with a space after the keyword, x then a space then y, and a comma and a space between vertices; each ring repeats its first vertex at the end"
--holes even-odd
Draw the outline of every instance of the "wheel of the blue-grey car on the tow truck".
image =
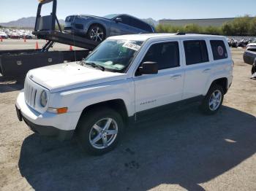
POLYGON ((87 38, 94 42, 102 42, 106 38, 105 28, 97 24, 90 26, 87 38))

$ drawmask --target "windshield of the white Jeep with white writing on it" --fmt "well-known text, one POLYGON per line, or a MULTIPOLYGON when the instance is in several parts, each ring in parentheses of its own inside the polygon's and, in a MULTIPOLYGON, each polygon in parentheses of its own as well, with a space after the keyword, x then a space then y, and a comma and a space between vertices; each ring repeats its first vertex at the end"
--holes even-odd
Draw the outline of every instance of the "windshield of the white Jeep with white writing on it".
POLYGON ((91 52, 83 60, 83 63, 93 63, 94 66, 102 66, 107 71, 124 72, 140 50, 142 43, 140 41, 107 39, 91 52))

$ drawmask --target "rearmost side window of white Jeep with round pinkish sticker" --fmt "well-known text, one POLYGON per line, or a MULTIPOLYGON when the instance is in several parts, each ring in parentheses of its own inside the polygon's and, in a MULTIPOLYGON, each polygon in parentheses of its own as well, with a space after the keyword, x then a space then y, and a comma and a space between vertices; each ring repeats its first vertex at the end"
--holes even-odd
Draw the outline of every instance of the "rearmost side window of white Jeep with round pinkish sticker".
POLYGON ((214 61, 227 58, 227 49, 222 40, 211 40, 210 42, 214 61))

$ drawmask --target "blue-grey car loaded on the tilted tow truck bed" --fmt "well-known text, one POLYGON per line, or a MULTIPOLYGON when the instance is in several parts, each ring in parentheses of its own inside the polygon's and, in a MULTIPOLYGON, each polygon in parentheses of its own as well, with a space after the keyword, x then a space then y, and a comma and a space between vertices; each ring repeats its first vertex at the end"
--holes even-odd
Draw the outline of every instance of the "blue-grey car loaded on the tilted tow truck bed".
POLYGON ((108 36, 154 33, 154 27, 130 15, 71 15, 65 20, 64 31, 102 42, 108 36))

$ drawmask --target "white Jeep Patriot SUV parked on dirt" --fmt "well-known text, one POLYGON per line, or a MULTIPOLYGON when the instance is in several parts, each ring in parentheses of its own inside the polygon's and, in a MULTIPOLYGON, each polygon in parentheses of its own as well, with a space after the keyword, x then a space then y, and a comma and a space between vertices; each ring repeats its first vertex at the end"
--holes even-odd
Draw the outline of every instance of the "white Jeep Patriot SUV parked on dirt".
POLYGON ((200 101, 214 114, 233 80, 224 36, 112 36, 80 62, 29 71, 16 109, 36 133, 70 139, 86 151, 113 149, 124 127, 146 114, 200 101))

